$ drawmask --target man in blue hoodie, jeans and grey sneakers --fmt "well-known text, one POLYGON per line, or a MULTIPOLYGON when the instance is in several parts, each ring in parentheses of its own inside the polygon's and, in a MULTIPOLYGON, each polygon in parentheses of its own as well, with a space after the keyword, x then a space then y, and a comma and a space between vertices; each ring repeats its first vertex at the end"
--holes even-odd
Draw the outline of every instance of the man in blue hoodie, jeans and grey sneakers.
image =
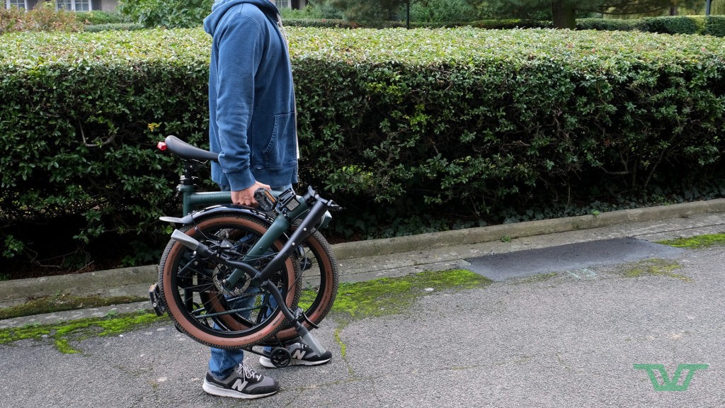
MULTIPOLYGON (((270 0, 218 0, 204 19, 212 36, 209 73, 210 149, 219 152, 212 179, 231 190, 233 203, 257 205, 259 188, 285 190, 297 183, 294 86, 286 38, 270 0)), ((288 346, 291 364, 317 365, 302 343, 288 346)), ((274 367, 266 357, 265 367, 274 367)), ((260 398, 279 383, 244 363, 244 351, 212 348, 204 391, 217 396, 260 398)))

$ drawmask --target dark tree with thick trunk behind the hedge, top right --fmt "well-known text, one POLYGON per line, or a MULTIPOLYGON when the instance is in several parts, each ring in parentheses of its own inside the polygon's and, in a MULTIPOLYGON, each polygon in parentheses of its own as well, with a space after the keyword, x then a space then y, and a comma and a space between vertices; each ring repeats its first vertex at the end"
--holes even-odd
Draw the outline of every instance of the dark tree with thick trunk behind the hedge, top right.
POLYGON ((499 17, 537 18, 550 12, 556 28, 576 28, 580 13, 630 15, 666 10, 670 7, 700 7, 702 0, 470 0, 499 17))

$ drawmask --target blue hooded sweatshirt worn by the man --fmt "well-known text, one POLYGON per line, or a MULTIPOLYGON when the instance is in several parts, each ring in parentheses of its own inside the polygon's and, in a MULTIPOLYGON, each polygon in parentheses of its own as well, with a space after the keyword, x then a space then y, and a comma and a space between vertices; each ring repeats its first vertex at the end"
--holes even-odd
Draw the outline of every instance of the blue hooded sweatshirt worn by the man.
POLYGON ((286 38, 270 0, 218 0, 204 19, 212 36, 209 139, 223 189, 297 183, 294 86, 286 38))

